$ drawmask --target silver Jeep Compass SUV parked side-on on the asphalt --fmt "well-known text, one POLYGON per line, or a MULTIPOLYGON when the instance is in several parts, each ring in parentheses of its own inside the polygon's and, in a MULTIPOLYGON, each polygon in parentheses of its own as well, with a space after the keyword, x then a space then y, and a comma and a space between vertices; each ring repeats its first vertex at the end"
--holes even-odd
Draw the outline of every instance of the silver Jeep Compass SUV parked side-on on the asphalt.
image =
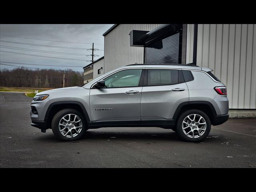
POLYGON ((198 142, 228 120, 226 86, 211 69, 191 64, 132 64, 82 87, 48 90, 31 103, 32 126, 60 140, 88 129, 161 127, 198 142))

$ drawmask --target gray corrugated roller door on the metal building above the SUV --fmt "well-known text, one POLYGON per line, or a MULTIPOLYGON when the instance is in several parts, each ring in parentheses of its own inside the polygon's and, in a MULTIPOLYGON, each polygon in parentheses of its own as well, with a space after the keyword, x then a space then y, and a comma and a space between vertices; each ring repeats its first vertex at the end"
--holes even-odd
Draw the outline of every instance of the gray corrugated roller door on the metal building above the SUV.
POLYGON ((145 49, 145 63, 171 63, 179 62, 179 32, 162 39, 162 46, 158 47, 157 42, 151 43, 150 47, 145 49), (154 46, 154 44, 156 44, 154 46), (153 48, 156 47, 156 48, 153 48), (162 47, 162 48, 161 48, 162 47))

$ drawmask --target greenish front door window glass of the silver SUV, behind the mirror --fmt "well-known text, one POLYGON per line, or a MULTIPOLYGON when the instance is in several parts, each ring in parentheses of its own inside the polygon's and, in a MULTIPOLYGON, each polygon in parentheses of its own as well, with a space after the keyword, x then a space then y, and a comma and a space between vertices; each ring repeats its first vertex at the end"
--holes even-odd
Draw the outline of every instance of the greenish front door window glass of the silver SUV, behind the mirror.
POLYGON ((139 85, 142 69, 122 70, 104 79, 107 88, 135 87, 139 85))

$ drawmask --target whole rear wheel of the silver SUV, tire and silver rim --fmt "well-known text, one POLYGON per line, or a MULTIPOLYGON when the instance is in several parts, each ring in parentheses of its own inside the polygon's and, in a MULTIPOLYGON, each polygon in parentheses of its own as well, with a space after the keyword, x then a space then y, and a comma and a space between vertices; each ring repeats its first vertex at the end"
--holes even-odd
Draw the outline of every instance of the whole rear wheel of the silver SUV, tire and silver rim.
POLYGON ((189 142, 202 141, 209 135, 210 130, 210 118, 204 112, 197 109, 183 112, 178 118, 176 125, 178 135, 189 142))

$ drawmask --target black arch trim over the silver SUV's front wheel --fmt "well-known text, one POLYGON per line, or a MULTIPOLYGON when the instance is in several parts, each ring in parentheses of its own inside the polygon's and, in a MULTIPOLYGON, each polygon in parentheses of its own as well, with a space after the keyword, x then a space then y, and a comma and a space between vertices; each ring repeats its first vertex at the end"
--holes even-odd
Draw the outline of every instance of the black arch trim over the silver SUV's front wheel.
POLYGON ((84 107, 84 105, 79 102, 79 101, 57 101, 57 102, 53 102, 49 105, 47 111, 46 111, 46 114, 44 116, 44 121, 47 121, 48 117, 49 117, 49 114, 52 110, 52 108, 56 105, 63 105, 63 104, 74 104, 74 105, 78 105, 81 109, 82 109, 82 112, 84 114, 84 117, 86 119, 86 122, 90 122, 90 118, 89 118, 89 115, 87 113, 87 110, 86 108, 84 107))

